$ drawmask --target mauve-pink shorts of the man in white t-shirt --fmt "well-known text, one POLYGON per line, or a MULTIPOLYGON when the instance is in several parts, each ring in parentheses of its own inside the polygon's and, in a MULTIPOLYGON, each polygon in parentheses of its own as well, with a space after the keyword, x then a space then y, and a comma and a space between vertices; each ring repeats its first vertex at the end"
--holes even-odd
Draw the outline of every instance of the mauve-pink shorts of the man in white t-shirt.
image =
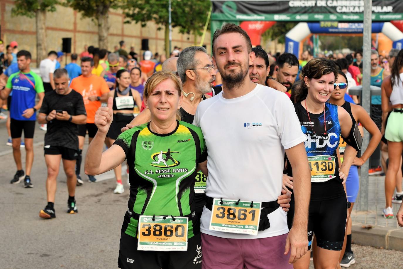
POLYGON ((202 269, 292 269, 284 255, 287 234, 230 239, 202 233, 202 269))

